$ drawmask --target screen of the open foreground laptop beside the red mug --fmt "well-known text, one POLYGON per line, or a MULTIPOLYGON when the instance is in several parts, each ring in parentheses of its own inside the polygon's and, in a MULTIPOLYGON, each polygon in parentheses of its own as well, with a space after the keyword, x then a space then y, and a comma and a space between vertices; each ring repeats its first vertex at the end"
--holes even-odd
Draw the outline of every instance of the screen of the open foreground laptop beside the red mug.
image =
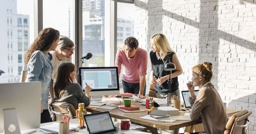
POLYGON ((115 130, 111 117, 108 113, 84 116, 84 118, 91 134, 115 130))

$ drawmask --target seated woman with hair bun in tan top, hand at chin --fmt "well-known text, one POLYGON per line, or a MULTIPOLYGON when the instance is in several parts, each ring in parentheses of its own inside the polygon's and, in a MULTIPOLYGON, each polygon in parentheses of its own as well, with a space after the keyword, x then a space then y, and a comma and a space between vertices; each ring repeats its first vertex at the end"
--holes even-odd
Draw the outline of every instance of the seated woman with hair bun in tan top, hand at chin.
POLYGON ((192 81, 187 83, 190 93, 188 101, 192 106, 190 118, 202 120, 205 133, 223 134, 228 116, 218 91, 211 83, 211 78, 211 62, 192 67, 192 81), (200 88, 197 96, 194 92, 195 86, 200 88))

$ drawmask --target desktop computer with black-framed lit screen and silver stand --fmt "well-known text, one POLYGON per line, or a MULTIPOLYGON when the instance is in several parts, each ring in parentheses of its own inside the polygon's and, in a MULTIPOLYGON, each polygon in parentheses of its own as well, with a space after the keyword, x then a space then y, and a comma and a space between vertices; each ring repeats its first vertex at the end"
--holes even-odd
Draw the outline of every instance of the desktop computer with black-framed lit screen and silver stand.
POLYGON ((79 83, 83 89, 86 84, 92 88, 93 102, 104 102, 102 95, 119 94, 117 67, 80 67, 79 83))

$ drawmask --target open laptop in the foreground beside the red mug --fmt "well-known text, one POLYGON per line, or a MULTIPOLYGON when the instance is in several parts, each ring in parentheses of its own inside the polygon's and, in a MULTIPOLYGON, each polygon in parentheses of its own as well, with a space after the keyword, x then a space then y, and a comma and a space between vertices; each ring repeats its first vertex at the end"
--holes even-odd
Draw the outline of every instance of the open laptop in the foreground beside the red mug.
POLYGON ((84 115, 89 134, 122 134, 117 132, 109 112, 84 115))

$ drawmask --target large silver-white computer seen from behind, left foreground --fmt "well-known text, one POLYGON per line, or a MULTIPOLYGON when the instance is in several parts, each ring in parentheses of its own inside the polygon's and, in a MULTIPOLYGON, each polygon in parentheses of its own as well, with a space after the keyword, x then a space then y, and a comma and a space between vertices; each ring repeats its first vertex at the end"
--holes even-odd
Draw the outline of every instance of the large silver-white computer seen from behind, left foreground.
POLYGON ((36 131, 41 118, 41 82, 0 84, 0 133, 36 131))

